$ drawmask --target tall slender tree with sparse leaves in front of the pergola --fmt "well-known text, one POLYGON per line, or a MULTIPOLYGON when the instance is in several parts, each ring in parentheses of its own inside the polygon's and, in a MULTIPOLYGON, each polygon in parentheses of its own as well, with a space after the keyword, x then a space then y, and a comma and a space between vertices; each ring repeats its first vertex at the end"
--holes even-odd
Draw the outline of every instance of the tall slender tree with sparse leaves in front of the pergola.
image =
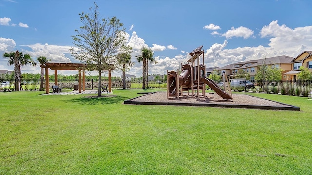
POLYGON ((81 62, 87 63, 87 70, 98 71, 98 96, 101 96, 101 76, 104 70, 113 70, 118 66, 117 53, 131 50, 126 46, 123 24, 116 17, 101 18, 98 6, 90 8, 89 13, 80 13, 83 26, 71 36, 76 47, 71 54, 81 62))

